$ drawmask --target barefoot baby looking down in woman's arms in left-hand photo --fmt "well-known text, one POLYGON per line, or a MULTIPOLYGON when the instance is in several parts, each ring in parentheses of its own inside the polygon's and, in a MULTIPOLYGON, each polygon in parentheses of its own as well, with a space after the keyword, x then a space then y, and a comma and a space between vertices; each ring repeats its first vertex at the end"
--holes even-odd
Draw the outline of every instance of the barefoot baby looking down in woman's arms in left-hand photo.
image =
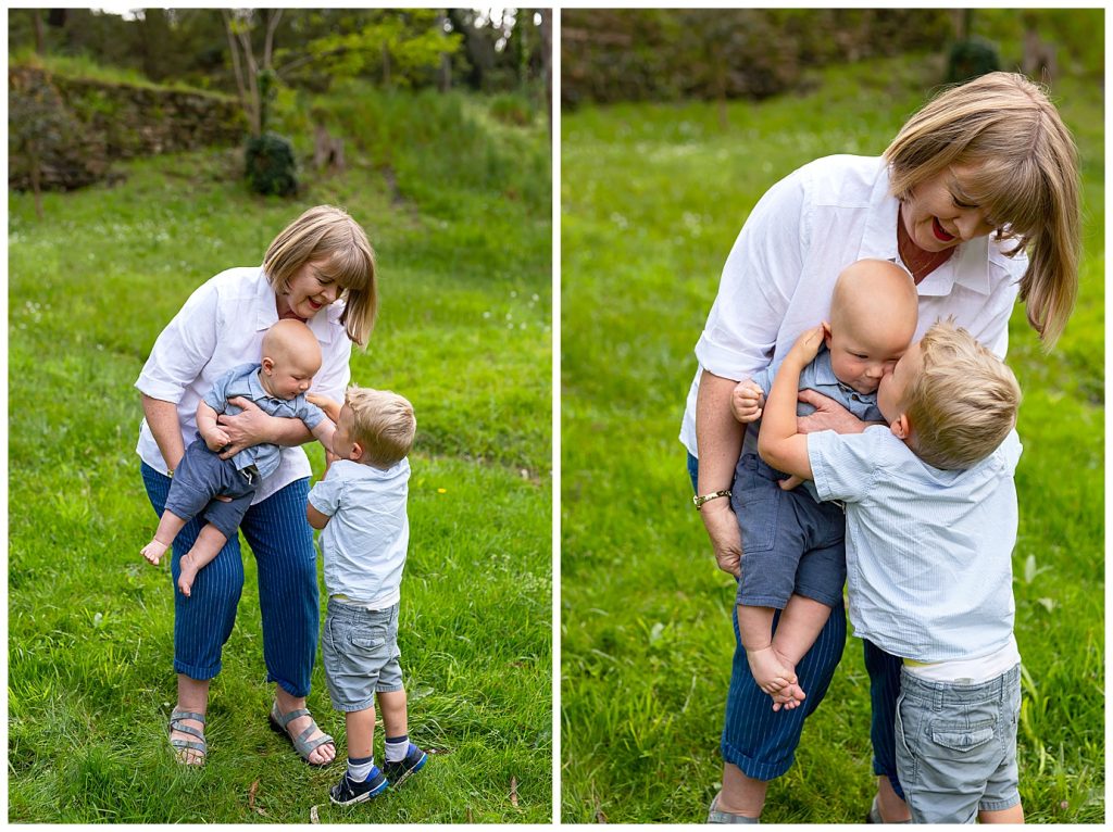
POLYGON ((230 437, 217 424, 217 416, 240 413, 228 399, 243 396, 270 416, 302 419, 327 449, 335 426, 305 397, 318 369, 321 345, 316 336, 299 320, 279 320, 263 336, 260 363, 228 370, 198 403, 198 438, 186 448, 173 472, 166 511, 155 537, 141 549, 144 557, 158 564, 183 526, 204 515, 206 525, 178 562, 183 595, 190 594, 197 573, 237 534, 255 489, 278 467, 282 453, 277 445, 262 444, 221 459, 219 453, 230 437))

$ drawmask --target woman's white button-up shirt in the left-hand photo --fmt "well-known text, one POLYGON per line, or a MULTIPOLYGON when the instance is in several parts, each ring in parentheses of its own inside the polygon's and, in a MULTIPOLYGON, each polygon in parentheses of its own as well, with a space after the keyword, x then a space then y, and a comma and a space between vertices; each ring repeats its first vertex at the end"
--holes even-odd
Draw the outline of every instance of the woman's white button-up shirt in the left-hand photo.
MULTIPOLYGON (((151 398, 177 405, 184 445, 195 438, 197 404, 213 383, 237 365, 258 363, 263 336, 278 323, 275 301, 262 268, 228 269, 194 291, 158 336, 136 387, 151 398)), ((322 354, 321 370, 309 392, 337 400, 343 400, 351 378, 352 341, 339 323, 343 311, 344 303, 337 300, 307 321, 322 354)), ((136 452, 156 471, 168 471, 146 419, 139 427, 136 452)), ((277 471, 263 481, 253 504, 311 474, 302 448, 283 448, 277 471)))

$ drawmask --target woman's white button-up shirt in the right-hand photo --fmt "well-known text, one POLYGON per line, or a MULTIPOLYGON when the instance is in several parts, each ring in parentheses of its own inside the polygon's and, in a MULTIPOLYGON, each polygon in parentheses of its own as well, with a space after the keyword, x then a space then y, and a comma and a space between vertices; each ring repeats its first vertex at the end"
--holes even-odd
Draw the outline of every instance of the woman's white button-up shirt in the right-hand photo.
MULTIPOLYGON (((727 258, 696 345, 699 367, 680 428, 689 452, 696 454, 696 395, 703 369, 741 380, 780 364, 800 333, 829 318, 844 268, 867 257, 899 263, 899 202, 888 191, 881 158, 829 156, 790 174, 758 200, 727 258)), ((1003 358, 1016 284, 1027 269, 1024 254, 1004 254, 1013 245, 989 237, 963 242, 920 281, 916 337, 953 315, 1003 358)), ((747 432, 746 449, 757 449, 754 432, 747 432)))

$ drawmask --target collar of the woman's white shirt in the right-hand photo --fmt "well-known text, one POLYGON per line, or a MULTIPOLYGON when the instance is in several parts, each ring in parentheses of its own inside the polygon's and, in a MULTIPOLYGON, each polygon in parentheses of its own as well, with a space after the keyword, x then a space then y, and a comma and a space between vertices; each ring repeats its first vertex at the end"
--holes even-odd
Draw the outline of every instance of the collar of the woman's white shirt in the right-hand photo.
MULTIPOLYGON (((861 237, 858 257, 879 257, 900 263, 897 251, 897 209, 900 201, 889 194, 889 168, 884 162, 869 195, 869 219, 861 237)), ((922 296, 949 295, 955 284, 988 297, 991 291, 986 260, 996 258, 989 251, 989 238, 978 237, 963 242, 951 259, 925 277, 916 287, 922 296)))

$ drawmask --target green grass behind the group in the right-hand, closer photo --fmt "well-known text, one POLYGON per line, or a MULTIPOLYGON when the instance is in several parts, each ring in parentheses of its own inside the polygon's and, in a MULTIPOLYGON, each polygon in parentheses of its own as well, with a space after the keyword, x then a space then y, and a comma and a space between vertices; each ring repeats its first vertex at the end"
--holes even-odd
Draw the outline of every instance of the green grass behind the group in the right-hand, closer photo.
MULTIPOLYGON (((718 789, 733 585, 691 509, 677 440, 692 348, 727 252, 774 182, 819 156, 878 155, 937 61, 831 68, 807 95, 618 105, 562 129, 561 716, 565 822, 701 822, 718 789)), ((1017 307, 1024 388, 1014 556, 1028 820, 1104 819, 1102 91, 1053 97, 1082 152, 1077 309, 1041 351, 1017 307)), ((860 822, 873 794, 868 677, 849 638, 765 822, 860 822)))

